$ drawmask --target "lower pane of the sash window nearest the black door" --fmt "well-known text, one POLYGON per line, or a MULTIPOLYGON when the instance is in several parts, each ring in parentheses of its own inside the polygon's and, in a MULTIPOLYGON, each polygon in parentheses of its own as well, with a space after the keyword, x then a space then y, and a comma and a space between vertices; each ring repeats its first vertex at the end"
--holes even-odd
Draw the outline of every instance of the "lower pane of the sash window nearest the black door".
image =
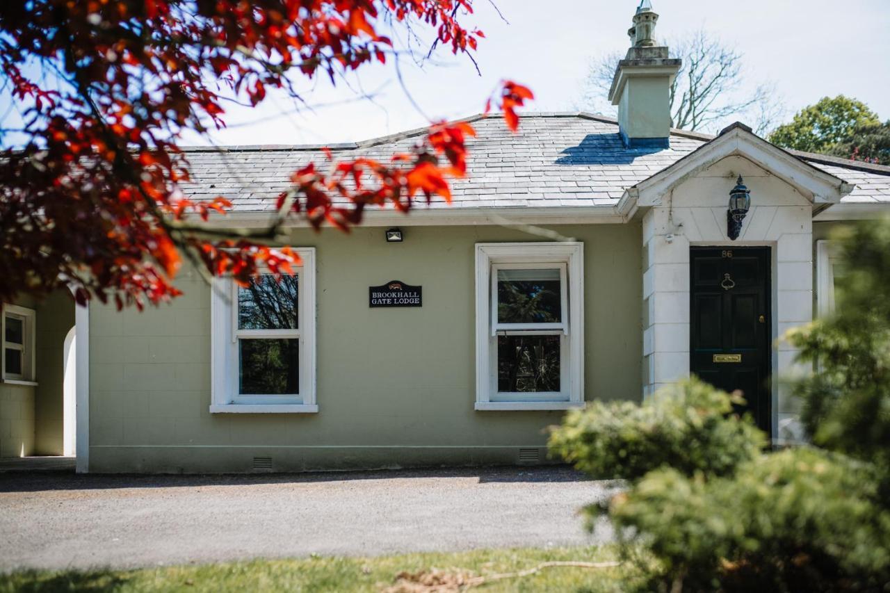
POLYGON ((559 336, 498 336, 498 392, 558 392, 559 364, 559 336))

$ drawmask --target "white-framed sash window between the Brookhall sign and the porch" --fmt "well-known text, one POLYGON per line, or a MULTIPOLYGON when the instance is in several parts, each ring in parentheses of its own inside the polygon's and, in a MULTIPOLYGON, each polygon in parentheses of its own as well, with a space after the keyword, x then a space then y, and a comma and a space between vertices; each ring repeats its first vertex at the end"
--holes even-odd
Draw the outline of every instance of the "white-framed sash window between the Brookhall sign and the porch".
POLYGON ((580 243, 477 246, 477 410, 583 404, 580 243))

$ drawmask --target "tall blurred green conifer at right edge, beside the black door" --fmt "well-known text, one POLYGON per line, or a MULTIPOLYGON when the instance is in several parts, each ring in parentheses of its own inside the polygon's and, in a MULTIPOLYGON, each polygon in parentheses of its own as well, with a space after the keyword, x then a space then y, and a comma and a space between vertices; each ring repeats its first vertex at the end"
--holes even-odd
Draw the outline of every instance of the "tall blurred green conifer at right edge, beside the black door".
POLYGON ((836 313, 792 331, 820 369, 797 385, 813 443, 874 463, 890 508, 890 220, 842 227, 836 313))

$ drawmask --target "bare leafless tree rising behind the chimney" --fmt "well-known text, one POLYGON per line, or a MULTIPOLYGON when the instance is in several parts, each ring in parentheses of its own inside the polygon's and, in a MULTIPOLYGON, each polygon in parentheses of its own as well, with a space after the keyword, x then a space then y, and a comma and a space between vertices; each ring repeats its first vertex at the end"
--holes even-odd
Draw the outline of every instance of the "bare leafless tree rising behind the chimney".
MULTIPOLYGON (((683 60, 671 86, 673 125, 684 130, 717 132, 732 120, 746 120, 757 134, 765 134, 781 117, 782 107, 774 85, 745 81, 743 56, 719 38, 699 29, 667 42, 671 53, 683 60)), ((619 60, 614 52, 592 61, 582 85, 582 109, 614 113, 607 98, 619 60)))

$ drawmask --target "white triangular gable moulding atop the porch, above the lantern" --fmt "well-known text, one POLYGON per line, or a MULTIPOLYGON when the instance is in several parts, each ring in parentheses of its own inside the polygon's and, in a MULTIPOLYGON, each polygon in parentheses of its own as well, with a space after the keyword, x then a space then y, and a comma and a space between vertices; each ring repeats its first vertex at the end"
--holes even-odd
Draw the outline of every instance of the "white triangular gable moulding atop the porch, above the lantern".
POLYGON ((837 204, 854 190, 852 183, 813 167, 752 133, 748 126, 736 123, 670 167, 628 188, 619 202, 619 211, 630 218, 637 208, 661 206, 664 197, 678 185, 732 157, 744 158, 788 183, 814 210, 837 204))

